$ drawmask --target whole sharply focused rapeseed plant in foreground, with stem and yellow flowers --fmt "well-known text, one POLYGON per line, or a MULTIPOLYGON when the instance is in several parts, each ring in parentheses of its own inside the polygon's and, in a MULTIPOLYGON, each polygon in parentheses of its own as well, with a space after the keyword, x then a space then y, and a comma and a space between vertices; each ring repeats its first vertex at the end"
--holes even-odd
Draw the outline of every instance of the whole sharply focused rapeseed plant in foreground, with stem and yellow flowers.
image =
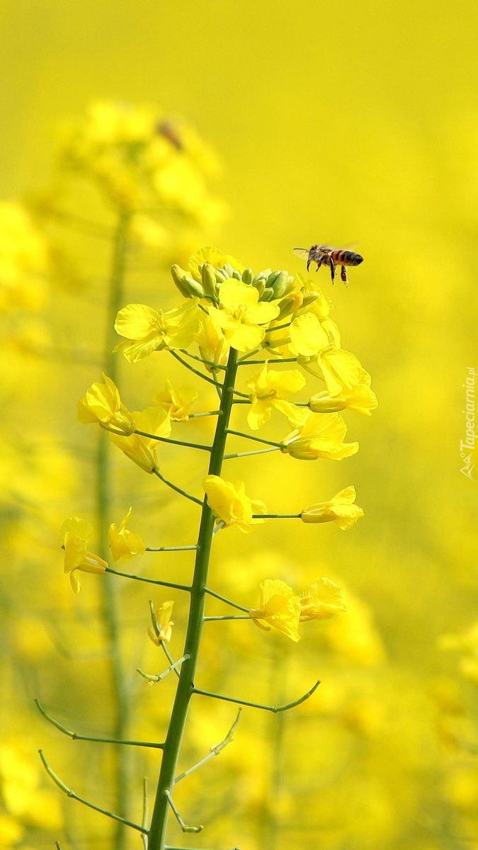
MULTIPOLYGON (((122 241, 122 251, 125 243, 122 241)), ((122 265, 124 258, 117 258, 122 265)), ((338 331, 328 320, 328 303, 322 292, 313 289, 310 281, 295 278, 285 270, 265 269, 258 275, 245 268, 242 263, 218 248, 208 246, 193 254, 189 269, 178 264, 172 269, 174 284, 183 301, 168 311, 149 307, 142 303, 131 303, 117 311, 115 329, 122 337, 115 346, 115 356, 120 353, 131 364, 146 357, 162 359, 168 354, 187 370, 199 377, 206 390, 213 388, 218 398, 218 409, 210 410, 201 405, 201 396, 190 387, 174 388, 167 375, 164 392, 153 396, 153 405, 143 411, 128 410, 121 398, 115 378, 117 366, 110 362, 110 374, 105 371, 104 383, 94 383, 78 404, 78 419, 83 423, 97 423, 108 432, 111 442, 144 472, 156 476, 163 485, 174 490, 182 499, 191 502, 200 510, 196 543, 185 546, 147 546, 135 532, 128 529, 132 508, 120 524, 112 523, 109 531, 102 535, 111 550, 111 560, 147 557, 153 552, 183 552, 195 554, 191 578, 187 583, 147 578, 138 570, 134 574, 117 570, 108 564, 108 557, 87 552, 91 526, 77 517, 65 520, 61 530, 65 547, 65 570, 71 574, 75 591, 79 590, 77 570, 104 573, 101 581, 122 576, 134 581, 145 581, 157 587, 183 592, 189 598, 189 615, 182 654, 174 658, 168 649, 174 622, 173 601, 162 602, 159 609, 151 603, 151 627, 149 635, 160 647, 168 660, 168 666, 159 674, 139 669, 139 674, 152 685, 174 673, 178 678, 174 704, 161 741, 133 741, 121 735, 114 739, 119 747, 124 745, 145 746, 162 751, 162 763, 156 785, 156 797, 148 821, 147 809, 141 823, 131 821, 125 812, 111 813, 98 807, 71 791, 59 779, 42 755, 48 774, 69 796, 102 811, 125 827, 139 831, 148 850, 164 850, 168 844, 168 818, 171 813, 185 833, 198 833, 202 824, 189 825, 174 801, 174 788, 180 779, 201 768, 208 758, 218 755, 236 731, 240 714, 230 732, 220 745, 211 749, 211 755, 196 762, 183 774, 177 775, 179 752, 186 732, 191 701, 196 695, 208 700, 233 703, 274 715, 289 711, 309 700, 316 691, 319 681, 308 691, 281 704, 267 705, 259 700, 243 699, 240 695, 228 695, 201 689, 196 686, 196 669, 202 647, 202 630, 206 622, 253 621, 259 628, 274 629, 293 643, 300 639, 299 627, 312 620, 327 620, 346 610, 344 594, 339 585, 326 577, 316 578, 296 593, 286 581, 277 577, 265 578, 259 584, 259 604, 243 604, 224 597, 209 586, 209 562, 214 542, 218 535, 234 535, 236 530, 250 533, 256 526, 268 520, 300 519, 304 523, 335 522, 342 530, 349 529, 363 515, 354 502, 355 490, 349 486, 341 490, 330 501, 321 501, 310 507, 293 506, 293 513, 270 513, 264 501, 249 496, 242 480, 231 482, 222 475, 225 460, 237 460, 243 456, 260 456, 270 452, 288 454, 298 460, 332 458, 342 460, 358 450, 358 444, 344 443, 345 424, 338 410, 343 410, 344 393, 353 393, 359 385, 369 388, 369 377, 354 354, 339 348, 338 331), (316 304, 318 303, 319 309, 316 304), (320 305, 327 305, 327 309, 320 305), (280 337, 277 335, 280 334, 280 337), (270 344, 270 338, 273 344, 270 344), (277 342, 279 340, 279 342, 277 342), (197 352, 196 352, 197 348, 197 352), (207 357, 204 356, 207 354, 207 357), (282 364, 295 362, 306 371, 312 371, 327 388, 327 404, 337 407, 331 412, 312 411, 312 399, 290 401, 290 394, 304 389, 305 381, 300 369, 282 369, 282 364), (260 365, 257 371, 257 365, 260 365), (250 367, 256 368, 250 376, 250 367), (113 376, 111 377, 111 372, 113 376), (367 377, 365 377, 367 376, 367 377), (236 410, 248 405, 247 422, 250 431, 240 430, 235 423, 236 410), (196 406, 200 409, 196 410, 196 406), (286 416, 289 427, 295 430, 282 439, 263 439, 257 435, 259 429, 276 413, 286 416), (176 429, 184 430, 186 423, 196 417, 207 417, 215 422, 213 439, 210 443, 195 443, 178 436, 172 437, 176 429), (253 441, 261 448, 230 454, 230 437, 253 441), (180 446, 183 450, 199 452, 208 457, 203 464, 204 472, 197 469, 196 493, 168 479, 162 473, 161 447, 165 444, 180 446), (242 613, 210 616, 206 614, 208 598, 242 613)), ((360 390, 357 394, 360 394, 360 390)), ((371 391, 370 391, 371 392, 371 391)), ((368 395, 367 412, 374 406, 368 395)), ((279 421, 279 420, 277 420, 279 421)), ((246 446, 245 446, 246 448, 246 446)), ((258 458, 259 461, 259 458, 258 458)), ((253 493, 253 496, 259 494, 253 493)), ((180 518, 180 513, 178 514, 180 518)), ((180 519, 178 520, 180 522, 180 519)), ((290 695, 289 695, 290 696, 290 695)), ((48 712, 39 706, 43 715, 65 734, 72 734, 48 712)), ((84 737, 73 734, 74 737, 84 737)), ((88 740, 93 740, 88 738, 88 740)))

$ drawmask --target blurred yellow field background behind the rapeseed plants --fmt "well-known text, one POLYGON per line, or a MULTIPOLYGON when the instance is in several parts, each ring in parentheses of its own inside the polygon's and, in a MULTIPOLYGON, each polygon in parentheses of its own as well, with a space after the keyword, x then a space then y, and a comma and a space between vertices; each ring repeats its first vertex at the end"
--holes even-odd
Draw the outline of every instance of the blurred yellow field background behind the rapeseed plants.
MULTIPOLYGON (((270 266, 291 274, 304 272, 294 246, 357 242, 364 257, 350 269, 348 288, 332 287, 324 269, 312 273, 333 298, 344 348, 371 373, 378 395, 371 419, 347 417, 359 454, 339 464, 266 455, 234 473, 251 496, 284 512, 353 483, 365 519, 344 535, 330 525, 298 531, 274 522, 247 539, 230 530, 214 564, 219 592, 242 604, 255 604, 264 578, 299 590, 329 575, 344 587, 349 612, 311 624, 292 647, 247 624, 224 626, 219 642, 206 632, 216 689, 287 701, 316 677, 322 685, 295 719, 243 718, 218 763, 194 774, 189 791, 181 788, 186 819, 207 822, 204 838, 179 833, 177 841, 241 850, 478 848, 478 638, 457 638, 456 652, 443 651, 441 638, 469 632, 477 616, 478 472, 470 479, 460 471, 464 383, 478 368, 476 4, 3 0, 0 32, 2 200, 31 202, 52 183, 65 117, 82 116, 94 99, 151 103, 184 116, 222 162, 210 185, 229 216, 220 227, 204 224, 197 244, 188 235, 183 252, 214 241, 254 272, 270 266)), ((104 332, 108 249, 73 235, 71 244, 75 272, 53 287, 43 318, 58 351, 78 343, 91 362, 74 362, 74 354, 36 360, 10 342, 2 354, 9 698, 1 850, 43 850, 55 840, 62 850, 112 850, 108 825, 52 788, 35 751, 44 745, 67 784, 107 807, 105 752, 59 741, 31 709, 40 696, 88 734, 105 734, 111 713, 96 577, 73 598, 55 550, 62 519, 92 510, 93 429, 77 423, 76 405, 100 377, 96 333, 104 332)), ((128 301, 171 306, 165 266, 172 259, 150 258, 143 277, 135 271, 128 301)), ((179 376, 165 359, 122 370, 130 408, 145 407, 151 390, 179 376)), ((193 480, 185 457, 171 454, 168 463, 193 480)), ((117 522, 142 474, 126 464, 117 461, 117 522)), ((151 545, 191 542, 189 511, 178 520, 180 502, 152 484, 134 504, 138 518, 144 508, 136 529, 154 532, 151 545)), ((168 563, 184 579, 190 561, 168 563)), ((134 672, 146 651, 150 597, 137 587, 128 593, 134 672)), ((170 699, 173 683, 163 687, 170 699)), ((158 693, 141 691, 135 711, 141 734, 161 739, 158 693)), ((223 707, 207 718, 199 709, 187 743, 195 758, 232 722, 223 707)), ((140 779, 147 772, 154 787, 156 776, 156 762, 144 758, 134 766, 135 819, 140 779)))

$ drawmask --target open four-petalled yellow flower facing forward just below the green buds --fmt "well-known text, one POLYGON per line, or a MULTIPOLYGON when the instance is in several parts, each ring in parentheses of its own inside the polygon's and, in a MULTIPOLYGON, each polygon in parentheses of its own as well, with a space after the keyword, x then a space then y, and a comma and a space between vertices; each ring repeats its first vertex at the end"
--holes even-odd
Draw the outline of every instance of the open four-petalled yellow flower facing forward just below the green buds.
POLYGON ((235 278, 219 288, 219 309, 209 306, 214 324, 223 329, 225 338, 237 351, 252 351, 262 343, 266 325, 279 314, 277 304, 259 302, 259 292, 235 278))

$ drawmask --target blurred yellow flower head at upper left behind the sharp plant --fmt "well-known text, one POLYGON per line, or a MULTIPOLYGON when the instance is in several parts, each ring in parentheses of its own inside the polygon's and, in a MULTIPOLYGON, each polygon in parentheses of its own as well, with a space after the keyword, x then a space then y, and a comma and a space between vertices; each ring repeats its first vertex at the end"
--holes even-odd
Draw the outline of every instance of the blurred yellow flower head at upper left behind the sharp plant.
POLYGON ((202 226, 224 216, 207 188, 219 170, 213 152, 155 106, 96 100, 86 116, 65 123, 60 152, 66 172, 93 179, 115 207, 138 213, 134 235, 152 247, 168 244, 167 229, 141 210, 174 209, 202 226))

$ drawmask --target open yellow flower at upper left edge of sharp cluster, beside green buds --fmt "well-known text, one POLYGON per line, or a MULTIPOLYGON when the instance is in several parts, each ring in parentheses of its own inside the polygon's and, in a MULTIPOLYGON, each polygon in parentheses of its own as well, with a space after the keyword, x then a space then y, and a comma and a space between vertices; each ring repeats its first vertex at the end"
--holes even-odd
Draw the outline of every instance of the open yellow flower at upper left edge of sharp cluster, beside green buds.
POLYGON ((145 304, 128 304, 117 314, 115 330, 121 337, 115 351, 122 350, 129 363, 143 360, 163 348, 187 348, 199 326, 196 298, 163 313, 145 304))

